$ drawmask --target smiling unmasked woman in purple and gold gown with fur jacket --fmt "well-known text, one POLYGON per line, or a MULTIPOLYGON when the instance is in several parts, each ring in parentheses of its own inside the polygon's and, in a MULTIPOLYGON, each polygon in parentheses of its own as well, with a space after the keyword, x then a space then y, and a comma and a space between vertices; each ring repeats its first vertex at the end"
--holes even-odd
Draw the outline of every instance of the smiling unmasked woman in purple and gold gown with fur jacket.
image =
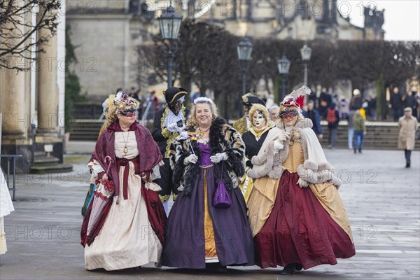
POLYGON ((173 181, 181 194, 167 220, 162 265, 221 272, 227 265, 253 265, 253 240, 238 188, 244 175, 244 142, 217 117, 207 97, 195 99, 187 127, 195 136, 181 134, 170 151, 173 181), (221 177, 232 202, 226 209, 213 204, 221 177))

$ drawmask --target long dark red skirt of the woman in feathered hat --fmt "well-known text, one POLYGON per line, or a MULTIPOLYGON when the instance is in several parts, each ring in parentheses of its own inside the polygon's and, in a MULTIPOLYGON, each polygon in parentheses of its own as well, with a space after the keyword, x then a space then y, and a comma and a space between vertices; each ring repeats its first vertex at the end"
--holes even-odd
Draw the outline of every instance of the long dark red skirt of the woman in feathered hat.
POLYGON ((285 267, 300 263, 304 269, 335 265, 337 258, 355 255, 349 235, 335 223, 311 188, 297 185, 299 176, 281 175, 272 212, 254 237, 258 266, 285 267))

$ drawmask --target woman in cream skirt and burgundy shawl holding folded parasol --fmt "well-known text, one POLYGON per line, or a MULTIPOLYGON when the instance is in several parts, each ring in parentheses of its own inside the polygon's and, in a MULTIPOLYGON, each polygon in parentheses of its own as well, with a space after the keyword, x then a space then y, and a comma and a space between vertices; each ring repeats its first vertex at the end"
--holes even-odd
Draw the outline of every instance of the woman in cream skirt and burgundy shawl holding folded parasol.
POLYGON ((115 185, 111 205, 102 214, 102 229, 90 241, 86 237, 86 219, 92 214, 95 201, 85 216, 82 244, 85 267, 89 270, 140 267, 161 260, 166 214, 156 193, 159 189, 153 189, 157 185, 150 182, 162 155, 148 129, 137 123, 136 107, 137 103, 127 94, 116 94, 106 110, 106 129, 99 136, 88 165, 92 179, 108 179, 115 185), (108 157, 113 163, 106 160, 108 157))

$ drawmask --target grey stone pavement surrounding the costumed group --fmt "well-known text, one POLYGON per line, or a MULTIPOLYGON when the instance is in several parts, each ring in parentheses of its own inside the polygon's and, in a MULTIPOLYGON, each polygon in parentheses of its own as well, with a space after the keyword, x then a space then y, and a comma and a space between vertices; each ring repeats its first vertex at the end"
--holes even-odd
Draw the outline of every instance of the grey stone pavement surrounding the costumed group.
POLYGON ((420 153, 405 169, 402 151, 325 151, 345 184, 340 188, 353 230, 356 256, 293 276, 277 269, 228 267, 226 274, 155 268, 123 272, 84 268, 80 207, 87 191, 85 162, 91 143, 73 142, 69 174, 19 176, 15 211, 6 216, 8 252, 0 279, 419 279, 420 153))

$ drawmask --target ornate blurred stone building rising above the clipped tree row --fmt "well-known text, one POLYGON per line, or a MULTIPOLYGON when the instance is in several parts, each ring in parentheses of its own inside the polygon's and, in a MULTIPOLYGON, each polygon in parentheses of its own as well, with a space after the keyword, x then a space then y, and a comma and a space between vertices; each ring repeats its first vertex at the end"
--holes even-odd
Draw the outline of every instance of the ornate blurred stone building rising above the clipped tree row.
MULTIPOLYGON (((181 10, 182 4, 177 3, 181 10)), ((237 36, 308 41, 384 40, 383 11, 364 8, 365 27, 360 28, 344 16, 349 6, 346 3, 338 6, 337 0, 193 0, 189 3, 187 16, 215 22, 237 36), (205 6, 209 9, 203 9, 205 6)))

